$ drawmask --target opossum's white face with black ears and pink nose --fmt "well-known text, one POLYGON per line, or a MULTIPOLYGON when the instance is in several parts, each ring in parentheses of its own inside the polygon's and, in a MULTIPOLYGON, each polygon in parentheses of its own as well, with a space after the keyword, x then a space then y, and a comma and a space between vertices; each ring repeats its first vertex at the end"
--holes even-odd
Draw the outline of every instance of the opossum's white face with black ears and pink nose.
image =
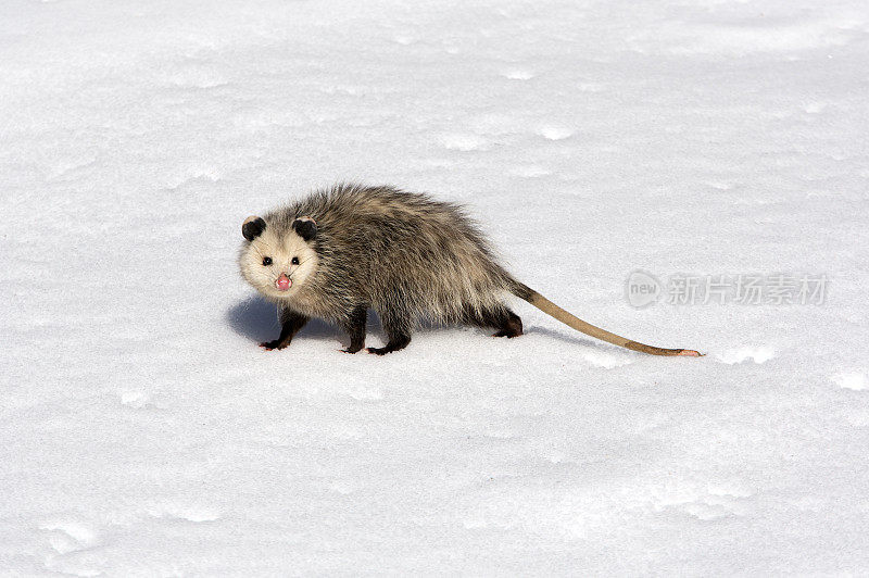
POLYGON ((292 298, 317 269, 313 248, 317 224, 311 217, 299 217, 286 226, 251 216, 241 234, 241 275, 265 297, 292 298))

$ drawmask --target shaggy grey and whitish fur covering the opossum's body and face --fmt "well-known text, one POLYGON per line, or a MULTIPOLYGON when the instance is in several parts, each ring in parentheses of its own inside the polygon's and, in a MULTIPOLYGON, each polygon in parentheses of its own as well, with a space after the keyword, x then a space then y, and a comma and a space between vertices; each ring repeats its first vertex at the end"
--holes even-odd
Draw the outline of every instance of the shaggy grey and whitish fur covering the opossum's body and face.
MULTIPOLYGON (((350 330, 354 312, 373 309, 390 342, 402 336, 410 341, 420 319, 500 328, 503 319, 515 317, 504 297, 529 291, 498 263, 459 205, 425 194, 337 185, 263 219, 267 235, 262 242, 245 240, 239 262, 244 277, 282 307, 282 316, 320 317, 350 330), (297 238, 293 227, 305 217, 316 224, 310 240, 297 238), (284 240, 295 247, 304 241, 316 262, 304 280, 293 281, 292 294, 286 297, 270 290, 256 273, 263 255, 276 252, 273 246, 284 240)), ((287 271, 293 278, 292 267, 287 271)))

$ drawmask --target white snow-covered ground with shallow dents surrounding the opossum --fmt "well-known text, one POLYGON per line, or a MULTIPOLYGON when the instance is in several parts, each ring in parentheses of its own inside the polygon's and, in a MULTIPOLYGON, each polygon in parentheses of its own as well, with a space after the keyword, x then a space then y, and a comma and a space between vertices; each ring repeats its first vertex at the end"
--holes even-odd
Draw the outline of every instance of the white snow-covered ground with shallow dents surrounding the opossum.
POLYGON ((2 574, 869 574, 867 71, 864 0, 2 2, 2 574), (241 222, 341 179, 708 355, 524 303, 265 352, 241 222), (638 268, 830 286, 637 310, 638 268))

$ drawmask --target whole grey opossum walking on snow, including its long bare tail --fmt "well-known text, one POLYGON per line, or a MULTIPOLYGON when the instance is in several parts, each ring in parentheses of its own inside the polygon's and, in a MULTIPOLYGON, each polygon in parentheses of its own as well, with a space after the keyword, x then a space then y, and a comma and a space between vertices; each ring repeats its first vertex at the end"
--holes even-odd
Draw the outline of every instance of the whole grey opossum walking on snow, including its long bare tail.
POLYGON ((490 327, 495 337, 522 335, 506 304, 513 294, 559 322, 633 351, 700 355, 688 349, 645 345, 590 325, 502 267, 461 205, 421 193, 356 184, 320 189, 287 206, 248 217, 239 266, 244 279, 278 305, 280 335, 267 350, 290 344, 312 317, 350 335, 342 350, 365 347, 369 309, 388 342, 367 348, 383 355, 411 342, 420 319, 490 327))

